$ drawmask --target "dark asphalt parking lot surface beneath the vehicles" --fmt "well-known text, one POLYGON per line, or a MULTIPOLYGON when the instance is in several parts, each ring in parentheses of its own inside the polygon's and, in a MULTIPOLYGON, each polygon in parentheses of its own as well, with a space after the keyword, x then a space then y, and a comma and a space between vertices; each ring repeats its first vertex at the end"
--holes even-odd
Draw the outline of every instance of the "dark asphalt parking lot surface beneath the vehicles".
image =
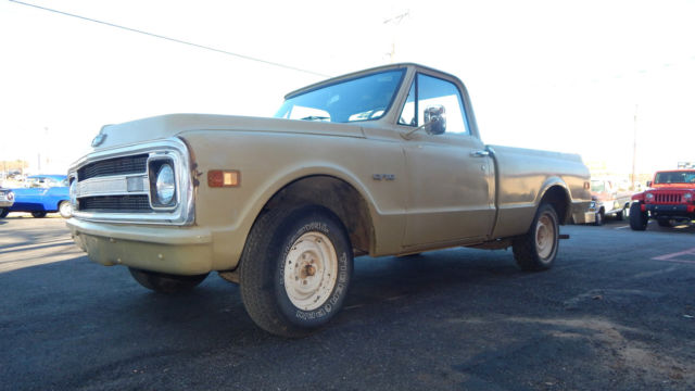
POLYGON ((330 327, 283 340, 216 275, 152 293, 27 216, 0 220, 3 390, 695 389, 695 226, 566 226, 532 274, 510 251, 359 257, 330 327))

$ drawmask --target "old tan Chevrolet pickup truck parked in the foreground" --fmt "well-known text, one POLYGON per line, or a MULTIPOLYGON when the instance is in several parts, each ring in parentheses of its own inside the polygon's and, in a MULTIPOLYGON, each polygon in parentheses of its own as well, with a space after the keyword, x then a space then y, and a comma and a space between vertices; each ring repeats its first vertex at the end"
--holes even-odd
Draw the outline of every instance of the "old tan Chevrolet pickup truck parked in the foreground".
POLYGON ((90 260, 167 293, 218 272, 286 337, 338 313, 356 255, 511 247, 540 270, 561 224, 593 218, 579 155, 485 146, 462 81, 417 64, 302 88, 274 118, 165 115, 92 147, 67 222, 90 260))

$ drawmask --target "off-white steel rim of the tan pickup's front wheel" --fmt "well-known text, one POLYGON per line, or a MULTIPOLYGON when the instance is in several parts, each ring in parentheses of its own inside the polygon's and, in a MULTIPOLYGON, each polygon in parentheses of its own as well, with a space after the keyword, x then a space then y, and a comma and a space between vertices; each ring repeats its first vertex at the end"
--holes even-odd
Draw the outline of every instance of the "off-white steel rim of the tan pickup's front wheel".
POLYGON ((338 278, 338 254, 321 232, 306 232, 285 258, 285 290, 294 306, 313 311, 328 300, 338 278))

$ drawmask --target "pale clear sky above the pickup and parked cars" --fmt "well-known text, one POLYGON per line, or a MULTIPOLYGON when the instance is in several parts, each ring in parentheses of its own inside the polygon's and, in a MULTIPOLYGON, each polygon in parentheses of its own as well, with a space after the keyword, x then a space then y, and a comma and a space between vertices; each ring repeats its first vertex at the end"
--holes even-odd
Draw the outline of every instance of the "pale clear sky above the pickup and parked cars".
MULTIPOLYGON (((695 161, 695 1, 27 2, 321 75, 418 62, 464 80, 486 143, 615 172, 631 171, 636 112, 639 172, 695 161)), ((270 116, 325 78, 8 0, 0 53, 0 160, 56 172, 104 124, 270 116)))

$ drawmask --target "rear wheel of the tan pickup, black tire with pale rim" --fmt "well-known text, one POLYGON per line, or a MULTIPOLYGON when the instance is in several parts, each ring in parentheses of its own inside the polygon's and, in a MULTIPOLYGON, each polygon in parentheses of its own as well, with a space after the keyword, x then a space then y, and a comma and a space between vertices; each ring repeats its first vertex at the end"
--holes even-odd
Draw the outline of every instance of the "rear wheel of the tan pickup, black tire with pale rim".
POLYGON ((526 272, 553 267, 559 244, 559 220, 553 205, 542 203, 529 231, 513 241, 517 265, 526 272), (549 247, 549 248, 548 248, 549 247))

